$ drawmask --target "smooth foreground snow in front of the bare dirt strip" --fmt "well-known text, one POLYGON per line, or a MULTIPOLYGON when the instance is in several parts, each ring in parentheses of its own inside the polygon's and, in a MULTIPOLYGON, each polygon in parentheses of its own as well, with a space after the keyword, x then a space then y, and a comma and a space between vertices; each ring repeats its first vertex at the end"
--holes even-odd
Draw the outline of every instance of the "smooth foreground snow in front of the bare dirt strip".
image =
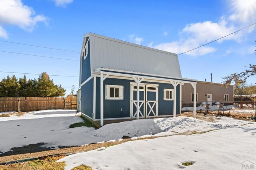
POLYGON ((65 170, 81 164, 101 170, 245 169, 256 163, 255 141, 256 123, 203 134, 131 141, 73 154, 57 162, 65 161, 65 170), (186 161, 195 163, 183 166, 186 161))

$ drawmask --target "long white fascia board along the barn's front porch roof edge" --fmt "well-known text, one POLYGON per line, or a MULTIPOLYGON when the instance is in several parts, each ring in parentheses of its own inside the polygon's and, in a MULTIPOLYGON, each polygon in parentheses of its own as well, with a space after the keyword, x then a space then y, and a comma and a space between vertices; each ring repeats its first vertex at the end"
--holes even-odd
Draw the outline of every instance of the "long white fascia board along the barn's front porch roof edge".
POLYGON ((101 72, 104 74, 110 74, 110 75, 115 75, 115 76, 124 76, 124 77, 140 77, 140 78, 146 78, 146 79, 152 79, 152 80, 164 80, 164 81, 176 81, 176 82, 183 82, 183 83, 193 83, 196 84, 197 80, 194 79, 188 79, 188 78, 178 78, 178 77, 171 77, 171 76, 162 76, 158 74, 148 74, 148 73, 142 73, 142 72, 132 72, 132 71, 125 71, 125 70, 116 70, 116 69, 111 69, 111 68, 96 68, 94 72, 101 72), (104 70, 106 70, 104 72, 104 70), (108 72, 109 71, 115 71, 115 72, 120 72, 120 73, 115 73, 115 72, 108 72), (125 74, 125 73, 130 73, 130 74, 125 74), (141 75, 131 75, 131 74, 143 74, 141 75), (145 75, 145 76, 144 76, 145 75), (156 77, 151 77, 151 76, 159 76, 162 78, 156 78, 156 77), (172 80, 170 80, 172 79, 172 80), (178 79, 178 80, 175 80, 178 79), (181 80, 180 80, 181 79, 181 80))

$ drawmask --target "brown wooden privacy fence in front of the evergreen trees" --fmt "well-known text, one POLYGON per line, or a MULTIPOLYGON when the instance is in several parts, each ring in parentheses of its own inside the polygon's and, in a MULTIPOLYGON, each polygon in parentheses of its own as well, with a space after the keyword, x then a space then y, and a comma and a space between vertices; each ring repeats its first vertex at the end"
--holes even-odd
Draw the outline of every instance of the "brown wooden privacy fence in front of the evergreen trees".
POLYGON ((0 112, 76 109, 76 98, 0 98, 0 112))

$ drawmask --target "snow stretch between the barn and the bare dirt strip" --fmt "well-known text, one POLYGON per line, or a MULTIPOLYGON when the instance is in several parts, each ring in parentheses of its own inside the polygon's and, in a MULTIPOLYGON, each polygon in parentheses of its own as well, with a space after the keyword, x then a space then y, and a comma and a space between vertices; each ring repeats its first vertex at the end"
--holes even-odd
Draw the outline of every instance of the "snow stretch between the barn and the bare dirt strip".
POLYGON ((20 117, 0 117, 0 129, 4 129, 0 131, 0 152, 36 143, 46 143, 42 147, 56 149, 119 140, 124 135, 134 138, 173 135, 185 131, 239 127, 248 123, 227 117, 216 119, 218 122, 212 123, 180 116, 112 123, 97 130, 89 127, 69 128, 71 124, 83 121, 80 117, 74 116, 75 113, 74 110, 48 110, 26 113, 20 117))

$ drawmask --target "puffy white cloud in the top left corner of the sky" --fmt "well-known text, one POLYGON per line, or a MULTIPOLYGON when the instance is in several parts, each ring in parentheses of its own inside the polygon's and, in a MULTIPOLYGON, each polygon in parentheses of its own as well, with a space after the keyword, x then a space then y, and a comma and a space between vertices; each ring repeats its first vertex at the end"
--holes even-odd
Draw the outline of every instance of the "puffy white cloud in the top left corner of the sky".
POLYGON ((21 0, 0 0, 0 23, 17 25, 26 31, 33 31, 38 22, 46 24, 47 18, 35 15, 34 10, 24 5, 21 0))

